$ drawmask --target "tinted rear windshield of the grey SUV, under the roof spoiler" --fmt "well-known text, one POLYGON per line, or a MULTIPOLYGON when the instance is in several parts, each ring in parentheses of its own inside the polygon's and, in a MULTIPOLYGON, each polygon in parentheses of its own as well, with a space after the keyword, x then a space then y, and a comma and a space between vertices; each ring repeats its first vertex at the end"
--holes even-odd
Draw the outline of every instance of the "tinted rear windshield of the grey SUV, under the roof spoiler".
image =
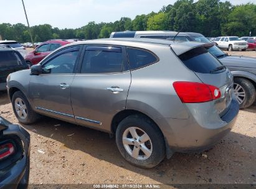
POLYGON ((187 68, 198 73, 212 73, 216 68, 222 66, 219 60, 208 52, 206 47, 193 48, 179 55, 179 59, 187 68))

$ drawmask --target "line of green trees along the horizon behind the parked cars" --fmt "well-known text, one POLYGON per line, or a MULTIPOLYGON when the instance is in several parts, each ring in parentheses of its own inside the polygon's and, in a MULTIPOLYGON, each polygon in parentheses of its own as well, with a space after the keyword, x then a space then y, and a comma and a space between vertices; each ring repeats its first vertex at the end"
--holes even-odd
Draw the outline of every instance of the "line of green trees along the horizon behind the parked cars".
MULTIPOLYGON (((89 22, 77 29, 59 29, 49 24, 31 27, 34 42, 49 39, 98 39, 108 38, 111 32, 125 30, 175 30, 198 32, 206 37, 221 35, 256 36, 256 4, 232 5, 220 0, 178 0, 163 6, 159 12, 141 14, 131 20, 121 17, 115 22, 89 22)), ((26 25, 0 24, 2 39, 29 42, 30 35, 26 25)))

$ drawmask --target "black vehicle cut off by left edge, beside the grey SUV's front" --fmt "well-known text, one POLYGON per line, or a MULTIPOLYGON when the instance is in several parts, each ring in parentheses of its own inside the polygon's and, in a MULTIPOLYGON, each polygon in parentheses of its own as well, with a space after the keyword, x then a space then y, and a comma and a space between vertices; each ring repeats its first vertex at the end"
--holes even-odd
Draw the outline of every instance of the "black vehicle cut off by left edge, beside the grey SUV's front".
POLYGON ((0 91, 6 90, 6 78, 10 73, 28 68, 21 53, 12 48, 0 48, 0 91))

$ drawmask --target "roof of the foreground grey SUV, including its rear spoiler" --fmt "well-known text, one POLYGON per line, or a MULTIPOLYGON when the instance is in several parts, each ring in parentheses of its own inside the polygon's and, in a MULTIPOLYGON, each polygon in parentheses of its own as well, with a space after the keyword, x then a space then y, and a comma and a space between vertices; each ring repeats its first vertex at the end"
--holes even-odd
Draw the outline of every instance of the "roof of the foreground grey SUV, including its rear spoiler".
MULTIPOLYGON (((124 46, 131 46, 131 47, 138 47, 140 48, 141 44, 149 44, 149 45, 161 45, 166 47, 171 47, 176 55, 181 55, 192 48, 206 46, 206 45, 213 45, 213 44, 205 44, 201 42, 177 42, 173 40, 164 40, 164 39, 145 39, 145 38, 108 38, 108 39, 95 39, 95 40, 86 40, 82 42, 75 42, 72 44, 65 45, 72 46, 72 45, 79 45, 79 44, 104 44, 104 45, 124 45, 124 46)), ((62 48, 64 48, 62 47, 62 48)))

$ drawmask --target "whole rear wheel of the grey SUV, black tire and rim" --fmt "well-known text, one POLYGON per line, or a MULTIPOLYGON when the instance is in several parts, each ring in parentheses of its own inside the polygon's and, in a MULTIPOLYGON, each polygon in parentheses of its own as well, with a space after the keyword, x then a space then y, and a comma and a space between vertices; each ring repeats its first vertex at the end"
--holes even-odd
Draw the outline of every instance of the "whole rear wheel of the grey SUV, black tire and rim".
POLYGON ((138 114, 126 117, 120 122, 120 124, 118 124, 116 129, 116 145, 125 160, 130 164, 141 168, 155 167, 166 156, 164 137, 159 127, 150 119, 146 118, 146 116, 138 114), (136 134, 138 134, 138 136, 133 134, 133 136, 138 137, 136 138, 136 141, 130 131, 135 131, 136 134), (143 134, 148 136, 148 140, 146 137, 145 140, 143 140, 141 137, 143 134), (129 144, 123 144, 123 138, 129 139, 129 144), (132 143, 131 141, 135 143, 132 143), (143 150, 141 150, 145 150, 145 147, 148 149, 147 152, 151 151, 151 154, 145 154, 143 150), (131 153, 136 149, 138 150, 138 158, 131 155, 131 153))

